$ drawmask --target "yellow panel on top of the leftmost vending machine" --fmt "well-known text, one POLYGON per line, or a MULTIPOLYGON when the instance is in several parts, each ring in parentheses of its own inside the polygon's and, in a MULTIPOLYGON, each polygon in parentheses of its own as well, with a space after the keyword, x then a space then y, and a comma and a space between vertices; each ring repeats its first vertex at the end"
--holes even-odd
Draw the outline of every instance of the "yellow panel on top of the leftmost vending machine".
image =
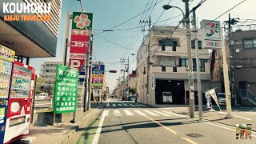
POLYGON ((14 62, 15 51, 0 45, 0 58, 6 61, 14 62))

